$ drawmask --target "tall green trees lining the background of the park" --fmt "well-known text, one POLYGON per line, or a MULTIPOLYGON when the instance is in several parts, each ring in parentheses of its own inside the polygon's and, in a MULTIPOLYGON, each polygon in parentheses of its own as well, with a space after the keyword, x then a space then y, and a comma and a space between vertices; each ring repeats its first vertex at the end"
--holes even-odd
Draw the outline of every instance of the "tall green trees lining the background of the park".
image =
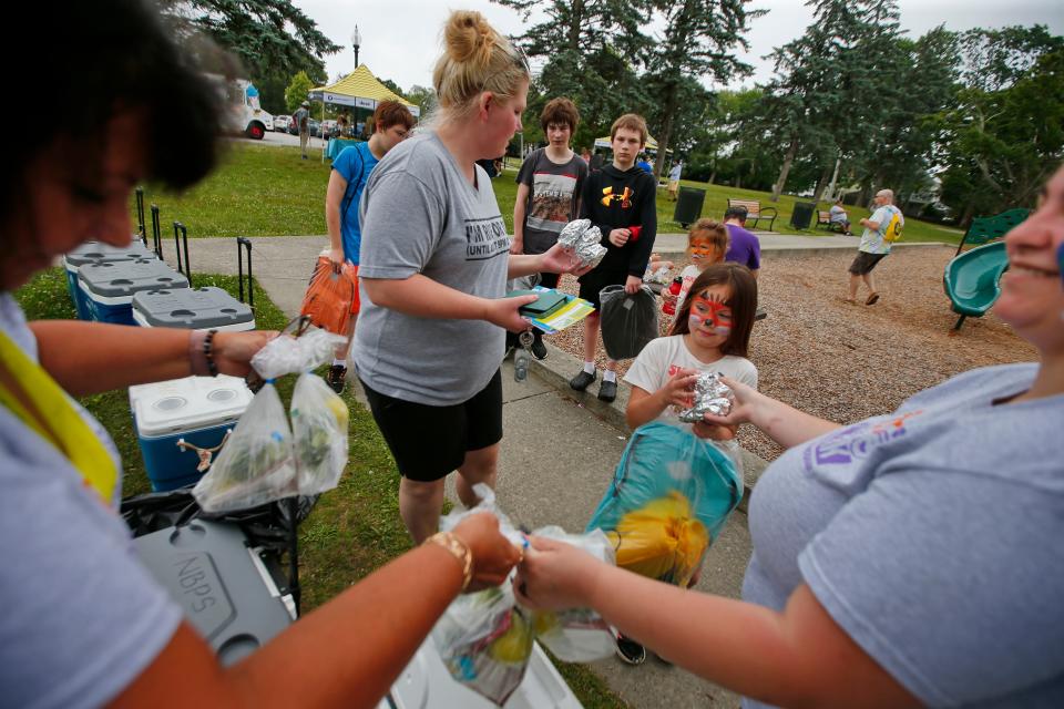
MULTIPOLYGON (((513 38, 538 71, 523 138, 542 141, 539 113, 554 96, 580 106, 577 147, 626 112, 647 119, 659 152, 690 179, 782 192, 890 187, 910 214, 978 214, 1030 206, 1064 158, 1064 38, 1045 25, 900 29, 897 0, 809 0, 805 32, 768 56, 774 75, 750 89, 737 54, 751 0, 492 0, 515 10, 513 38), (535 22, 531 22, 532 18, 535 22), (653 28, 653 29, 649 29, 653 28), (943 212, 944 210, 944 212, 943 212)), ((234 51, 272 113, 327 81, 323 55, 340 47, 290 0, 164 0, 178 27, 234 51)), ((403 92, 429 112, 432 90, 403 92)))

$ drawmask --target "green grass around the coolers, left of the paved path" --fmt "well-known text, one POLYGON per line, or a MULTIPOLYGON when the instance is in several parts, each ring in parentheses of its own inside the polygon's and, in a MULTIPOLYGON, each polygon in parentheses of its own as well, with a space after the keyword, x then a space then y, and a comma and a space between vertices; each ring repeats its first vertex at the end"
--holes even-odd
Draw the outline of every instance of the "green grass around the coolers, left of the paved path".
MULTIPOLYGON (((236 295, 235 276, 196 274, 196 286, 217 286, 236 295)), ((39 274, 16 294, 30 320, 72 319, 74 307, 66 295, 62 268, 39 274)), ((287 317, 256 288, 255 321, 259 329, 280 329, 287 317)), ((277 384, 282 399, 291 397, 294 377, 277 384)), ((299 527, 299 566, 303 610, 308 612, 410 548, 399 517, 399 473, 372 415, 350 394, 349 463, 340 484, 325 493, 299 527)), ((123 493, 149 492, 151 486, 130 414, 125 390, 84 397, 82 404, 106 428, 122 454, 123 493)), ((589 709, 626 707, 583 665, 554 661, 580 701, 589 709)))

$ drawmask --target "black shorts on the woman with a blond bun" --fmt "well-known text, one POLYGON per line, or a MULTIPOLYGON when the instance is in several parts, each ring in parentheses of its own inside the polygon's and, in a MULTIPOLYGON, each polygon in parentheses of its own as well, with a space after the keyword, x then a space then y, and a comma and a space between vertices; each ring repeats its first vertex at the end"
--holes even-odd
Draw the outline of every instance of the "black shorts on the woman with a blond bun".
POLYGON ((502 374, 495 371, 473 398, 451 407, 430 407, 378 393, 362 382, 399 474, 433 482, 458 470, 466 451, 477 451, 502 440, 502 374))

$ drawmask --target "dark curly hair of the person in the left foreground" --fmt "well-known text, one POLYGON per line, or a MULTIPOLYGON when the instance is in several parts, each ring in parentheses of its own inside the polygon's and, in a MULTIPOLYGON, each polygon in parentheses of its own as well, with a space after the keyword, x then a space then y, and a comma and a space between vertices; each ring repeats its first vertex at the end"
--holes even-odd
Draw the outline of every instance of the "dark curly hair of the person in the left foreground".
MULTIPOLYGON (((144 116, 145 177, 173 189, 188 187, 214 167, 224 120, 221 86, 201 71, 198 59, 217 51, 185 33, 174 41, 154 3, 146 0, 59 2, 42 9, 16 3, 4 10, 0 65, 8 66, 9 95, 25 106, 58 109, 59 119, 27 125, 6 151, 0 172, 0 220, 22 202, 27 169, 61 146, 65 167, 81 181, 99 177, 102 144, 111 120, 121 112, 144 116), (25 28, 48 22, 45 44, 25 52, 25 28)), ((235 72, 235 60, 225 60, 235 72)), ((20 109, 20 121, 30 121, 20 109)))

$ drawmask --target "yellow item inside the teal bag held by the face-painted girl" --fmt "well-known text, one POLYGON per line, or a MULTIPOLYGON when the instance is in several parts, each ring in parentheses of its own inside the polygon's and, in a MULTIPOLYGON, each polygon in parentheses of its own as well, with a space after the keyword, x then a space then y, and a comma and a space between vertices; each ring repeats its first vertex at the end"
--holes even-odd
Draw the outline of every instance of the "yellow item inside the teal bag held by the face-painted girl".
POLYGON ((705 525, 692 516, 687 497, 676 491, 628 512, 606 536, 617 566, 678 586, 687 585, 709 547, 705 525))

